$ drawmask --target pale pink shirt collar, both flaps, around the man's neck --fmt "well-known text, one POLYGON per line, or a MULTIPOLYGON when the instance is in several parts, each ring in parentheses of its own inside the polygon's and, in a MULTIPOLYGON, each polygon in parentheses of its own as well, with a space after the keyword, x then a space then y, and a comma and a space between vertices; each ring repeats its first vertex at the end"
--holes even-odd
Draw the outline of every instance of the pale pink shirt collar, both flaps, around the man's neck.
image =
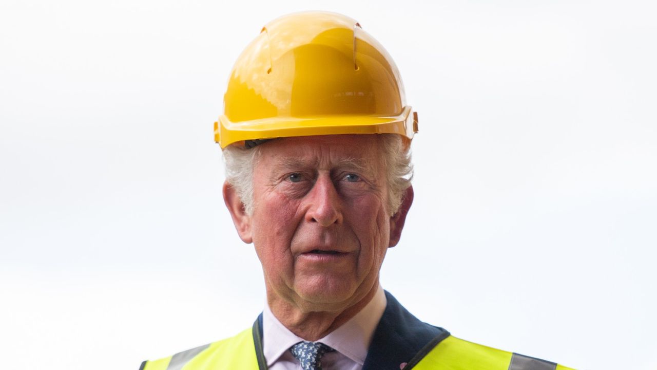
MULTIPOLYGON (((322 342, 349 357, 352 361, 363 365, 365 357, 367 357, 367 348, 372 342, 374 329, 386 309, 386 303, 386 294, 383 288, 378 286, 372 300, 359 313, 317 342, 322 342)), ((291 346, 304 340, 284 327, 271 312, 269 305, 265 305, 262 323, 263 354, 267 359, 268 367, 275 363, 291 346)))

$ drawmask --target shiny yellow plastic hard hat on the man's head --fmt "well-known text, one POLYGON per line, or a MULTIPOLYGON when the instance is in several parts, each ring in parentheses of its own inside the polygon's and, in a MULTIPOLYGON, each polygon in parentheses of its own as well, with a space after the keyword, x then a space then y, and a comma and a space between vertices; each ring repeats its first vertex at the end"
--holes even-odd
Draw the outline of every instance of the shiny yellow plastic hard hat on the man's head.
POLYGON ((237 59, 214 124, 223 149, 261 140, 417 132, 392 57, 342 14, 288 14, 262 28, 237 59))

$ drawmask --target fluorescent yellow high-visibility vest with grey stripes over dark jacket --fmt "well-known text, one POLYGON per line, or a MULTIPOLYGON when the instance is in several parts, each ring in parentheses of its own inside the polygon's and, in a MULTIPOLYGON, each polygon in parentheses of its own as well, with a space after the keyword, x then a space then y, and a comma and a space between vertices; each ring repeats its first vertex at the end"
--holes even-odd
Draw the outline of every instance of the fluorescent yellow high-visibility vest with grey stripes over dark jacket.
MULTIPOLYGON (((260 336, 244 330, 219 342, 193 348, 156 361, 145 361, 139 370, 266 370, 260 336)), ((447 336, 407 363, 403 370, 573 370, 447 336)))

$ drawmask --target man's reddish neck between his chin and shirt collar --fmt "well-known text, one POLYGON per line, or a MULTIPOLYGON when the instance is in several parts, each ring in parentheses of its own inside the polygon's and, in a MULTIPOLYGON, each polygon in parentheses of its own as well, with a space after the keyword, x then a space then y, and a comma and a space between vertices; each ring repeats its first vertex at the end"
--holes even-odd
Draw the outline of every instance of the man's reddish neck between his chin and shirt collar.
POLYGON ((304 340, 314 342, 338 329, 361 311, 374 297, 378 290, 378 281, 355 304, 341 311, 303 311, 294 304, 281 299, 267 290, 267 304, 271 313, 291 332, 304 340))

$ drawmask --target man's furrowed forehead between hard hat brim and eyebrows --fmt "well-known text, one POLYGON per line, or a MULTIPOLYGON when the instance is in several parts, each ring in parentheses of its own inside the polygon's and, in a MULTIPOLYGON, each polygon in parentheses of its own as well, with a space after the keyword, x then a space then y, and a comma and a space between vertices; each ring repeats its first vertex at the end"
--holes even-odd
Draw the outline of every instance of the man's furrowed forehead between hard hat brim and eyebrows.
POLYGON ((382 161, 378 135, 323 135, 280 138, 263 144, 260 161, 335 165, 345 160, 375 165, 382 161))

